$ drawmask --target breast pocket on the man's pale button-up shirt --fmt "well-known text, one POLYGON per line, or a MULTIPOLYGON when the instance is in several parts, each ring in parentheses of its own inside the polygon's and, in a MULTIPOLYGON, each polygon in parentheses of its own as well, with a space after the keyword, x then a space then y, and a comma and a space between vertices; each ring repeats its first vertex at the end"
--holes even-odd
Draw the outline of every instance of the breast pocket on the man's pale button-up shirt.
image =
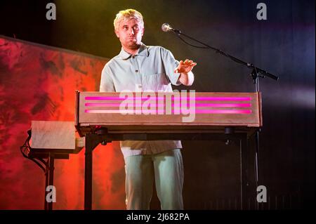
POLYGON ((142 79, 143 91, 165 91, 169 84, 166 73, 145 74, 142 79))

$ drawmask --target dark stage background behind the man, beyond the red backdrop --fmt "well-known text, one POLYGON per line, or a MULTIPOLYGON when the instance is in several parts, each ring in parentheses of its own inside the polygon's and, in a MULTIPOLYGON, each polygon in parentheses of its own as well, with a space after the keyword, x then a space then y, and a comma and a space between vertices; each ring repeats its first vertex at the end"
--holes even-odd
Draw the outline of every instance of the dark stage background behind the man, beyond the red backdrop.
MULTIPOLYGON (((251 70, 211 50, 185 45, 161 31, 164 22, 279 77, 260 80, 259 178, 268 190, 264 207, 315 208, 315 1, 1 1, 0 34, 112 58, 120 51, 114 16, 126 8, 143 13, 145 44, 197 62, 190 86, 195 91, 254 91, 251 70), (46 20, 48 2, 56 4, 57 20, 46 20), (267 5, 267 20, 256 18, 260 2, 267 5)), ((183 146, 185 207, 238 208, 237 143, 192 141, 183 146)), ((250 146, 254 150, 254 140, 250 146)), ((254 154, 249 158, 253 167, 254 154)), ((152 207, 159 207, 157 197, 152 207)))

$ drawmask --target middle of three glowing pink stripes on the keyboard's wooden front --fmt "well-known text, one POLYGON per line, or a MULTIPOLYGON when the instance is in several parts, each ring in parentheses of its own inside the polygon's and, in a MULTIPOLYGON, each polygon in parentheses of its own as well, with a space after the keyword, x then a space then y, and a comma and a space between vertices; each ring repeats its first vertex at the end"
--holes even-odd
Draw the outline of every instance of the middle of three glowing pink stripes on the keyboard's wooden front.
MULTIPOLYGON (((119 107, 120 103, 85 103, 86 107, 119 107)), ((153 104, 156 107, 164 107, 164 104, 153 104)), ((143 107, 141 104, 136 104, 133 106, 143 107)), ((172 107, 175 106, 174 103, 171 104, 172 107)), ((178 104, 178 107, 190 107, 190 104, 178 104)), ((195 107, 251 107, 250 103, 196 103, 195 107)))

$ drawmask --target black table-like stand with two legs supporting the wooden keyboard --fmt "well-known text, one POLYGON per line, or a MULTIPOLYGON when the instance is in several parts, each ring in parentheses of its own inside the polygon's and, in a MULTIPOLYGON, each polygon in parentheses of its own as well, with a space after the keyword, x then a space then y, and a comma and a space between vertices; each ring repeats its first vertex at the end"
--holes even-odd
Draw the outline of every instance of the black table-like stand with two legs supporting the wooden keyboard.
POLYGON ((245 209, 249 191, 247 167, 247 133, 106 133, 100 129, 97 133, 86 134, 85 175, 84 175, 84 209, 92 209, 92 166, 93 150, 98 144, 106 145, 112 140, 237 140, 239 141, 240 168, 240 206, 245 209))

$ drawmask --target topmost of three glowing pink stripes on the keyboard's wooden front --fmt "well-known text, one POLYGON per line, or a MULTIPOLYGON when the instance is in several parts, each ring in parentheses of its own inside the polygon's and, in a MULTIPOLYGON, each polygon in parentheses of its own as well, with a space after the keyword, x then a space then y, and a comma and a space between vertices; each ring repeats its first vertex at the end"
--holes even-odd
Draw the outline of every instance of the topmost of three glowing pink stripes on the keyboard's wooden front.
MULTIPOLYGON (((86 96, 85 100, 127 100, 116 96, 86 96)), ((151 100, 164 100, 164 97, 151 97, 151 100)), ((173 100, 190 100, 190 97, 176 97, 173 100)), ((133 100, 148 100, 147 97, 133 97, 133 100)), ((251 97, 196 97, 195 100, 249 101, 251 97)))

